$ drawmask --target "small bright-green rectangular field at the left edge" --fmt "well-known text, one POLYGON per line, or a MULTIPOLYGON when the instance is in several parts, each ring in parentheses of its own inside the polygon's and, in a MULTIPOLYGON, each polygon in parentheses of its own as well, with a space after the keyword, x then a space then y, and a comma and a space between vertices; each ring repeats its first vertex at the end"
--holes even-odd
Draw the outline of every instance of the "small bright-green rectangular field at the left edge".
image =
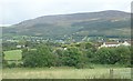
POLYGON ((4 51, 4 60, 21 60, 21 50, 4 51))

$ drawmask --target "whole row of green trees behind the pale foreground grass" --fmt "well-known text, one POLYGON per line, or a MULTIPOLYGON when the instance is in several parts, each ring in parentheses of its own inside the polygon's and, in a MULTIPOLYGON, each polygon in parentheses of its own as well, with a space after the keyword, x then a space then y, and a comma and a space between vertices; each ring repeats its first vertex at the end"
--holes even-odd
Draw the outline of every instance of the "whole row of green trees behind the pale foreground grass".
POLYGON ((131 47, 98 49, 94 43, 71 44, 40 43, 34 49, 22 49, 22 64, 25 68, 74 67, 90 64, 123 64, 131 67, 131 47))

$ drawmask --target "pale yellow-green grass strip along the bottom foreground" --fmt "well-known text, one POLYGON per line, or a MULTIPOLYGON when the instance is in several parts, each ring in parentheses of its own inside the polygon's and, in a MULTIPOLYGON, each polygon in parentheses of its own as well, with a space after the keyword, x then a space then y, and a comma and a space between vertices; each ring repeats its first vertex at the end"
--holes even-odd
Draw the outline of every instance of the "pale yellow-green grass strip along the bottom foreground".
MULTIPOLYGON (((114 68, 114 79, 131 79, 131 68, 114 68)), ((13 68, 3 69, 3 79, 110 79, 110 69, 13 68)))

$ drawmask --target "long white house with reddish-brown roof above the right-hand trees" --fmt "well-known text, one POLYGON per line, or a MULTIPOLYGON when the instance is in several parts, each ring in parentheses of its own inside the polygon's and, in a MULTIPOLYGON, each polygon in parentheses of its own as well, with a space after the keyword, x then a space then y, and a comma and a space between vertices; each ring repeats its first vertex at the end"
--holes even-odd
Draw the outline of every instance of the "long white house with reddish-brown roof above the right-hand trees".
POLYGON ((111 47, 119 47, 119 45, 131 45, 131 43, 127 41, 124 41, 124 42, 103 42, 103 44, 100 45, 99 49, 103 48, 103 47, 111 48, 111 47))

